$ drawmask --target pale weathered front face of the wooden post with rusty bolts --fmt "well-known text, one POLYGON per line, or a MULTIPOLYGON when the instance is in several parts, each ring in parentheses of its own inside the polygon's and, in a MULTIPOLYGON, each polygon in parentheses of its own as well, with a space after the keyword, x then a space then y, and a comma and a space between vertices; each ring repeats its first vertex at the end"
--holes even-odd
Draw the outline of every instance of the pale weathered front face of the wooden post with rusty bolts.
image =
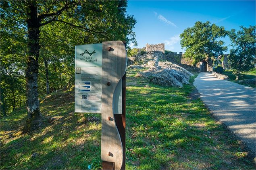
POLYGON ((114 169, 120 170, 123 164, 123 145, 113 113, 114 90, 125 74, 127 55, 122 41, 102 43, 102 133, 101 159, 114 162, 114 169), (108 51, 108 47, 111 50, 108 51), (110 82, 108 86, 107 83, 110 82), (108 120, 111 117, 111 121, 108 120), (110 152, 110 154, 108 154, 110 152))

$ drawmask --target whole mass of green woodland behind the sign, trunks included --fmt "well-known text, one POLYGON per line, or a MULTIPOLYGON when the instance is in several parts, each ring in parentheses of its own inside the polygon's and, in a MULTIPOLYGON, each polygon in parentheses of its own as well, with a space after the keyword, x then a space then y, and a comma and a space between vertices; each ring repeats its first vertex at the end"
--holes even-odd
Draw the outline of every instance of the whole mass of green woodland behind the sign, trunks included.
POLYGON ((136 21, 125 13, 127 1, 0 3, 1 107, 12 103, 15 108, 16 96, 26 94, 25 131, 42 124, 39 95, 73 83, 74 45, 117 39, 136 43, 136 21))

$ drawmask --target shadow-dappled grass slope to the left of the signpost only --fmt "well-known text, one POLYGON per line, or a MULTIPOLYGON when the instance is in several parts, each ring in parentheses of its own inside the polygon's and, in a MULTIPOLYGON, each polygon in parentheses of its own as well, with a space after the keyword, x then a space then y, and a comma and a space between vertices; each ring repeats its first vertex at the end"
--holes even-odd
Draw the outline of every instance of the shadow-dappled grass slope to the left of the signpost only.
MULTIPOLYGON (((40 105, 46 119, 36 131, 11 138, 2 134, 1 169, 85 169, 92 163, 95 169, 101 167, 101 125, 88 121, 92 116, 100 120, 100 115, 74 114, 73 96, 73 92, 64 92, 46 98, 40 105), (49 116, 53 117, 51 123, 49 116), (31 157, 34 153, 36 156, 31 157)), ((25 114, 15 114, 2 121, 1 131, 15 130, 14 125, 25 123, 22 116, 25 114)))

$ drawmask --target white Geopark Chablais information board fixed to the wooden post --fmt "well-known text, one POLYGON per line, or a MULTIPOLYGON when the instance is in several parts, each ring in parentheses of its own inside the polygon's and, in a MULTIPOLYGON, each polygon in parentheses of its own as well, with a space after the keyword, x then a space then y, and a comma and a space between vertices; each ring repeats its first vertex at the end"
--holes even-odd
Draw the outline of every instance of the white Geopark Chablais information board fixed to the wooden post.
MULTIPOLYGON (((115 114, 122 113, 121 82, 115 114)), ((102 43, 75 46, 75 112, 101 113, 102 43)))

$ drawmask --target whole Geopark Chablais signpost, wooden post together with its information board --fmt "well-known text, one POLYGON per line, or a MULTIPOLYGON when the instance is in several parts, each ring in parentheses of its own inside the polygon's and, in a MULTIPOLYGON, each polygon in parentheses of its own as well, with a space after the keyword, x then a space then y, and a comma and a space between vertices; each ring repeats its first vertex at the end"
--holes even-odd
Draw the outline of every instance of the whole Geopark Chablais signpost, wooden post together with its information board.
POLYGON ((127 66, 125 43, 122 41, 103 42, 102 58, 101 54, 99 56, 100 44, 95 46, 95 50, 84 50, 85 47, 89 49, 92 46, 76 47, 75 108, 77 112, 92 111, 102 114, 102 168, 105 170, 125 169, 125 70, 127 66), (84 52, 81 53, 83 50, 84 52), (81 55, 86 56, 84 54, 88 56, 98 54, 99 58, 88 57, 91 63, 84 68, 79 65, 79 63, 83 65, 80 60, 82 60, 81 55), (98 62, 101 62, 101 59, 102 65, 98 62), (98 71, 100 66, 102 66, 102 72, 98 71), (96 73, 92 70, 94 68, 97 70, 96 73), (90 69, 91 71, 88 71, 90 69), (101 77, 101 84, 99 84, 99 77, 101 77), (99 90, 102 92, 100 101, 99 90), (91 100, 88 100, 89 98, 91 100), (100 104, 101 109, 98 108, 100 104))

